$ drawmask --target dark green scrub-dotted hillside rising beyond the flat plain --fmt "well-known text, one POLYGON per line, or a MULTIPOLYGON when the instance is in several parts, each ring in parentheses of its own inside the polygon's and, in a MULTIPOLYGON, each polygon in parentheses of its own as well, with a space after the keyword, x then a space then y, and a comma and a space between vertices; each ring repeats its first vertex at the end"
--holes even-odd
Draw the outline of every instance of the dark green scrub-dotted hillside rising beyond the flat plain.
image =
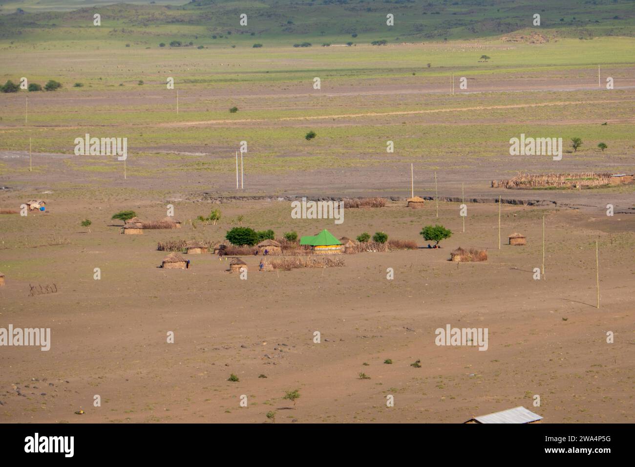
MULTIPOLYGON (((82 32, 91 38, 94 13, 101 15, 102 29, 117 29, 117 39, 150 42, 149 36, 156 36, 193 41, 196 37, 206 45, 256 39, 289 45, 303 41, 314 45, 443 41, 520 30, 586 39, 633 36, 635 31, 632 0, 552 0, 544 4, 526 0, 196 0, 181 6, 119 3, 48 12, 41 11, 47 8, 45 0, 24 0, 20 3, 24 8, 37 5, 38 12, 8 13, 7 8, 15 4, 8 1, 3 5, 2 39, 35 38, 46 31, 46 39, 64 40, 67 29, 73 30, 74 39, 81 38, 82 32), (241 13, 247 15, 246 26, 239 25, 241 13), (386 24, 388 14, 394 15, 393 26, 386 24), (540 27, 533 25, 535 14, 540 15, 540 27)), ((58 10, 64 0, 51 0, 50 4, 52 10, 58 10)))

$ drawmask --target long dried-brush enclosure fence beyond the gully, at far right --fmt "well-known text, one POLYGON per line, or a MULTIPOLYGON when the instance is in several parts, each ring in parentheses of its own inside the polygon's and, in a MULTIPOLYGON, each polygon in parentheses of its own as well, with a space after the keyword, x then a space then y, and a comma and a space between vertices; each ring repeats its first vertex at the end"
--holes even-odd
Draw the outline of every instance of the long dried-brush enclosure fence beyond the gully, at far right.
POLYGON ((575 188, 608 185, 611 182, 610 173, 548 173, 541 175, 530 175, 519 173, 513 179, 493 180, 491 186, 505 188, 575 188))

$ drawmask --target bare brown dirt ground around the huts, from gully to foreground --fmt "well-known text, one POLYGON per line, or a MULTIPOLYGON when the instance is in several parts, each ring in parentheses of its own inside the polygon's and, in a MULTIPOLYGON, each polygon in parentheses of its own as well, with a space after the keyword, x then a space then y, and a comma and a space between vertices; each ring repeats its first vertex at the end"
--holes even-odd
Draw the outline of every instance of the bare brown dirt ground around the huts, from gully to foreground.
MULTIPOLYGON (((0 191, 0 207, 25 193, 0 191)), ((504 205, 499 250, 493 204, 469 203, 463 233, 458 203, 439 203, 438 218, 434 201, 423 210, 401 201, 348 209, 335 225, 291 219, 288 201, 180 201, 182 229, 128 236, 112 213, 161 219, 165 203, 142 189, 107 193, 95 203, 54 190, 41 195, 45 213, 0 215, 0 327, 51 328, 50 351, 0 352, 2 422, 264 423, 273 411, 276 423, 460 423, 518 405, 545 423, 635 421, 633 215, 504 205), (192 229, 187 220, 211 206, 222 210, 220 223, 192 229), (190 255, 187 270, 157 267, 165 255, 157 241, 222 240, 237 215, 277 236, 385 231, 423 247, 420 229, 436 223, 453 235, 441 249, 344 255, 345 266, 330 269, 265 273, 260 257, 245 257, 247 280, 212 254, 190 255), (543 215, 545 280, 533 280, 543 215), (86 217, 90 233, 79 226, 86 217), (527 236, 525 247, 506 245, 514 232, 527 236), (458 246, 486 248, 489 259, 448 261, 458 246), (57 293, 29 296, 30 285, 53 283, 57 293), (434 332, 447 324, 488 328, 488 349, 436 346, 434 332), (227 381, 231 374, 239 381, 227 381), (295 407, 283 399, 293 389, 295 407)))

